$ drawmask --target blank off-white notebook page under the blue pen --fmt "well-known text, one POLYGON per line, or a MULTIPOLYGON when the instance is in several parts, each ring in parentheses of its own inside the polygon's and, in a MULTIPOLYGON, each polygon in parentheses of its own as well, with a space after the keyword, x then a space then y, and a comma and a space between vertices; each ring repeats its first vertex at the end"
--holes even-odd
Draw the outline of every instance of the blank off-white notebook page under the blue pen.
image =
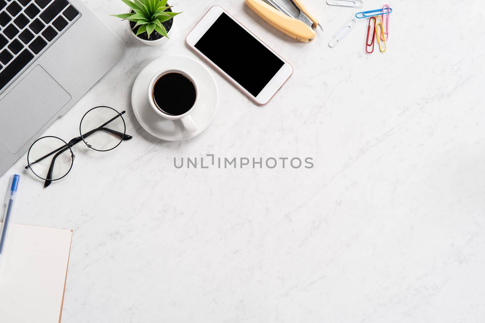
POLYGON ((61 322, 71 238, 71 230, 10 225, 0 268, 0 322, 61 322))

